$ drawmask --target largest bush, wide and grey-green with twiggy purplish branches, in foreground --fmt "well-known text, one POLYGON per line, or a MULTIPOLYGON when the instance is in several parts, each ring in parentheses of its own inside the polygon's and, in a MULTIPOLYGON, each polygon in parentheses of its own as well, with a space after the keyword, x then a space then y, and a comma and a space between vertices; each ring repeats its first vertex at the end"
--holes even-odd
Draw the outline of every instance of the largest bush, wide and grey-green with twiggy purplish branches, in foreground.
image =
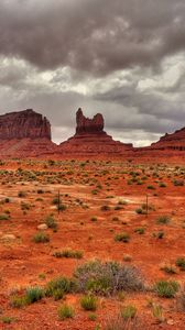
POLYGON ((117 262, 92 261, 76 268, 75 278, 79 292, 91 292, 99 295, 112 295, 119 292, 140 292, 144 283, 140 272, 130 265, 117 262))

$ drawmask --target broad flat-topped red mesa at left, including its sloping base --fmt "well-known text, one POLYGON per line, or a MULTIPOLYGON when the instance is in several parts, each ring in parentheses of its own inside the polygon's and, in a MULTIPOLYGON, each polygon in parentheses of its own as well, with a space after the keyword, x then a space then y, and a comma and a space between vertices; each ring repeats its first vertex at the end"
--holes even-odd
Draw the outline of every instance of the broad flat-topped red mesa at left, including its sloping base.
POLYGON ((53 154, 48 120, 32 109, 0 116, 0 156, 34 157, 53 154))

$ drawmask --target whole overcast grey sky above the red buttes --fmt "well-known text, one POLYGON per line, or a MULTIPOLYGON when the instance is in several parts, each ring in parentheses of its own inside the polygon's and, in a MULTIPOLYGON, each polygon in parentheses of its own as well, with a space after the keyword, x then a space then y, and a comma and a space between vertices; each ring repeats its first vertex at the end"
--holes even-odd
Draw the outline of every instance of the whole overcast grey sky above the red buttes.
POLYGON ((79 107, 134 145, 185 127, 184 0, 0 0, 0 113, 33 108, 61 142, 79 107))

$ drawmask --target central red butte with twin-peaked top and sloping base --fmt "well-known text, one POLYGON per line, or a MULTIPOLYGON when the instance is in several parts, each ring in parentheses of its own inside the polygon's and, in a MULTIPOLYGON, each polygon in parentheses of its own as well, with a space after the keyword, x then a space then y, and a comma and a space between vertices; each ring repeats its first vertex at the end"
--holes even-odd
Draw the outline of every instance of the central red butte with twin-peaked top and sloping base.
POLYGON ((81 109, 76 113, 76 134, 59 145, 59 153, 74 156, 121 155, 131 150, 132 144, 113 141, 104 131, 102 114, 89 119, 83 114, 81 109))

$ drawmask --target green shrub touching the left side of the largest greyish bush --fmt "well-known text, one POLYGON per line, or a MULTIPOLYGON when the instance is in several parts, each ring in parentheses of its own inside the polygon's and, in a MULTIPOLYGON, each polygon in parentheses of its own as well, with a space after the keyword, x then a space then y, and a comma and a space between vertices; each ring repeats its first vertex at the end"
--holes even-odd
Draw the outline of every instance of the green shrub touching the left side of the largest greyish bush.
POLYGON ((47 297, 54 297, 55 300, 62 299, 65 294, 69 294, 76 290, 76 283, 66 277, 57 277, 47 283, 45 288, 45 295, 47 297))

